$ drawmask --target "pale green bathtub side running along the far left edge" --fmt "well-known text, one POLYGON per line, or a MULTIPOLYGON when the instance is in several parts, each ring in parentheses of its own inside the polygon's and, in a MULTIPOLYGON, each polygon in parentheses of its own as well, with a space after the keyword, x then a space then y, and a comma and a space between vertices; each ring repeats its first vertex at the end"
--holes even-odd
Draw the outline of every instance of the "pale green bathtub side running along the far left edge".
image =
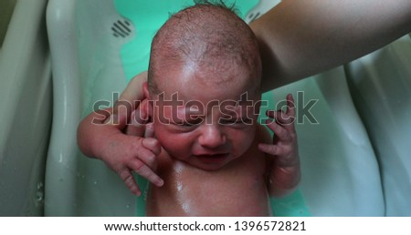
POLYGON ((52 106, 47 1, 4 3, 11 18, 1 24, 0 216, 41 216, 52 106))

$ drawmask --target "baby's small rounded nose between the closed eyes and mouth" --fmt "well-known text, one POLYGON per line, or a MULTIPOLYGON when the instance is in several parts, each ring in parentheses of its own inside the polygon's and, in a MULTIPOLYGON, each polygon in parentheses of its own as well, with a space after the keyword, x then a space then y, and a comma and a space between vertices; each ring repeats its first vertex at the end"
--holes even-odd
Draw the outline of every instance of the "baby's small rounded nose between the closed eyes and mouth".
POLYGON ((205 125, 198 138, 199 144, 207 148, 216 148, 224 145, 226 140, 226 135, 216 125, 205 125))

